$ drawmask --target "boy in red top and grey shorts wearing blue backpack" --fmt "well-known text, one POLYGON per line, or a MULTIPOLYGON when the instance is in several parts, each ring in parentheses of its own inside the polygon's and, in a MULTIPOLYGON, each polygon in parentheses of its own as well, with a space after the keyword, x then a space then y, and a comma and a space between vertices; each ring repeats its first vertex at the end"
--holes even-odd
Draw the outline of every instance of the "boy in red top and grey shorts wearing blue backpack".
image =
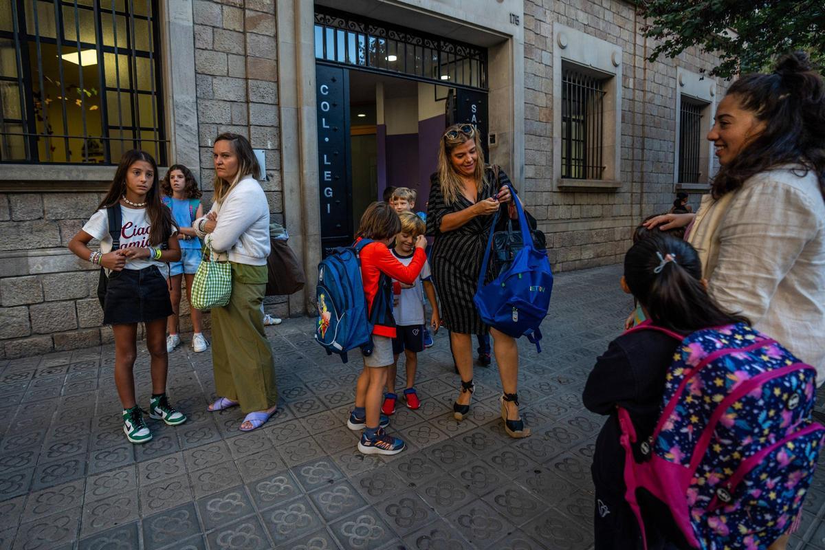
MULTIPOLYGON (((339 328, 368 330, 366 341, 356 342, 356 345, 364 350, 364 370, 361 371, 356 383, 356 406, 347 421, 350 430, 364 430, 361 440, 358 441, 358 450, 363 454, 398 454, 404 449, 402 440, 384 431, 389 425, 389 419, 381 415, 380 411, 381 397, 387 383, 387 370, 393 364, 393 338, 396 336, 391 280, 398 280, 404 284, 415 282, 424 262, 427 261, 424 252, 427 239, 423 236, 417 237, 413 260, 405 266, 388 248, 389 243, 393 242, 400 232, 401 221, 389 204, 370 204, 361 216, 354 246, 361 264, 361 280, 357 281, 361 284, 332 277, 332 271, 325 274, 324 262, 318 274, 319 316, 316 340, 328 350, 336 349, 346 353, 347 348, 351 349, 349 346, 352 343, 336 343, 332 333, 337 332, 339 328), (337 310, 330 297, 339 294, 340 289, 330 288, 331 286, 347 286, 347 292, 343 294, 356 296, 356 308, 341 307, 337 310), (358 294, 359 292, 361 294, 358 294), (361 310, 357 307, 361 307, 361 310), (347 309, 351 313, 361 311, 356 313, 359 327, 345 327, 342 319, 345 318, 344 312, 347 309)), ((346 355, 344 357, 346 360, 346 355)))

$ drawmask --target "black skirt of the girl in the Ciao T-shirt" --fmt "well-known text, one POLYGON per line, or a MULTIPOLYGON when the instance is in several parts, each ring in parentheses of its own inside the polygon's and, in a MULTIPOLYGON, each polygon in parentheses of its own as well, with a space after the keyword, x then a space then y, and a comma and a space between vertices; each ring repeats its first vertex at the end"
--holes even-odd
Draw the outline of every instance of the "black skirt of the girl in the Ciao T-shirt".
POLYGON ((158 266, 112 271, 102 306, 106 325, 154 321, 172 315, 169 287, 158 266))

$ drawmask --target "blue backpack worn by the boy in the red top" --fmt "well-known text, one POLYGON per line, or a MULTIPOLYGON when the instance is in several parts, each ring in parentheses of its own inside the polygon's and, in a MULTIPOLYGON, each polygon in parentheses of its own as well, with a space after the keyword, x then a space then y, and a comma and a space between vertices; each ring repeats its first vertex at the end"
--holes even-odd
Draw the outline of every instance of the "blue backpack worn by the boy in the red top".
POLYGON ((373 241, 361 239, 351 247, 333 248, 318 264, 315 340, 327 350, 327 355, 341 355, 344 363, 349 350, 360 347, 364 355, 372 353, 373 323, 367 315, 358 257, 370 242, 373 241))

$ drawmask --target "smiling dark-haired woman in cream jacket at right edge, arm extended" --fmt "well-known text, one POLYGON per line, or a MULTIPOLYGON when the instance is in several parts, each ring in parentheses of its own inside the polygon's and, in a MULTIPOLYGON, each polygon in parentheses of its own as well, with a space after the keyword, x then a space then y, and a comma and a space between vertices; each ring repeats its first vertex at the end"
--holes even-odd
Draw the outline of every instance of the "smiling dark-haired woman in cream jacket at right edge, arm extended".
POLYGON ((817 369, 825 382, 825 84, 808 55, 728 89, 708 134, 721 169, 688 227, 710 294, 817 369))

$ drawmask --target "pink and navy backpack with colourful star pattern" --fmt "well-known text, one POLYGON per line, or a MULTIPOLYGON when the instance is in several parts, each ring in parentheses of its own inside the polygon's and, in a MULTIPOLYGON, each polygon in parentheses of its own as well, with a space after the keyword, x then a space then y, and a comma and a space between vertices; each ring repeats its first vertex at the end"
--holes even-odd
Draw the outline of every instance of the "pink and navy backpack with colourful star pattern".
POLYGON ((799 515, 817 465, 816 370, 744 323, 686 337, 649 321, 639 330, 681 341, 653 435, 637 441, 619 408, 625 498, 644 548, 639 490, 667 506, 692 548, 768 548, 799 515))

